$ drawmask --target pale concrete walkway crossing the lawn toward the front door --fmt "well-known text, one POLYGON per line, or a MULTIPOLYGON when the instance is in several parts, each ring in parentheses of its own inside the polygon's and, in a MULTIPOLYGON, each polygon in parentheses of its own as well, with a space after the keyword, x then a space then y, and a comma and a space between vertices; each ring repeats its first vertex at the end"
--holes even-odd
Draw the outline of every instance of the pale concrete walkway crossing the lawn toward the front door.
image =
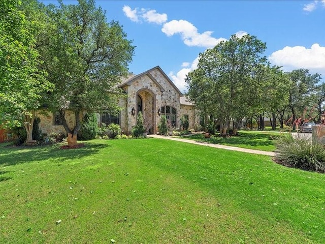
POLYGON ((194 140, 189 140, 189 139, 184 139, 184 138, 179 138, 179 137, 171 137, 171 136, 148 135, 148 137, 167 139, 167 140, 172 140, 172 141, 181 141, 181 142, 202 145, 202 146, 210 146, 210 147, 221 148, 221 149, 226 149, 226 150, 242 151, 244 153, 249 153, 249 154, 261 154, 261 155, 275 156, 275 153, 273 151, 261 151, 261 150, 241 148, 241 147, 237 147, 237 146, 211 144, 208 142, 203 142, 203 141, 200 142, 200 141, 194 141, 194 140))

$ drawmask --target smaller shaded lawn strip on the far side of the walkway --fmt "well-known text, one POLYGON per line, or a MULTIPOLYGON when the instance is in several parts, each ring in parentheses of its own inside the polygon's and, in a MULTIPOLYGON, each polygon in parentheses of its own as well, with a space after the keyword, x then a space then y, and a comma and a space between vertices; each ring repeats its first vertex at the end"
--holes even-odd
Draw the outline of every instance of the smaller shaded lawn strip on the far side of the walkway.
POLYGON ((280 133, 272 133, 265 131, 244 131, 240 130, 238 136, 220 137, 218 135, 211 138, 205 138, 204 134, 193 134, 190 136, 181 136, 185 139, 196 141, 205 141, 212 144, 222 144, 229 146, 237 146, 248 149, 274 151, 274 139, 280 136, 280 133))

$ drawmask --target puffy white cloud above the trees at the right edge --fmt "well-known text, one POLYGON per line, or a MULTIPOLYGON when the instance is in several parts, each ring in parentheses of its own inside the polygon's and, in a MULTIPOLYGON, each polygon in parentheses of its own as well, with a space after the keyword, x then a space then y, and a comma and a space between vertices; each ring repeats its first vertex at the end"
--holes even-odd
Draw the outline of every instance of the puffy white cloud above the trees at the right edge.
POLYGON ((285 71, 309 69, 325 74, 325 47, 315 43, 310 48, 303 46, 284 47, 269 56, 271 63, 283 66, 285 71))

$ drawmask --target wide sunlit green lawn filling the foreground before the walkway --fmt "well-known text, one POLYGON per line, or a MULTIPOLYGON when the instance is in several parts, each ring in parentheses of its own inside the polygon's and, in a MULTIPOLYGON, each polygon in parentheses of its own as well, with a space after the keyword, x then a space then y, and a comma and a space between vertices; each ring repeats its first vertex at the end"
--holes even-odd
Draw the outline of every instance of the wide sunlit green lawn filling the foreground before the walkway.
POLYGON ((58 147, 0 148, 0 243, 324 242, 323 174, 164 139, 58 147))

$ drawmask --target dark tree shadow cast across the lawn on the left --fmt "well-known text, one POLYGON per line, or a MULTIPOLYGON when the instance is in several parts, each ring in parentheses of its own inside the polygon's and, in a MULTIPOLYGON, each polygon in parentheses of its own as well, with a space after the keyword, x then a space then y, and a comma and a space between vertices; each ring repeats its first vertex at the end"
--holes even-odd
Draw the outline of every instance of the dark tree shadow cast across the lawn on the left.
POLYGON ((87 142, 84 147, 76 149, 60 149, 60 146, 61 144, 0 148, 0 166, 5 167, 42 160, 57 160, 58 162, 75 160, 99 153, 102 148, 112 145, 87 142))

